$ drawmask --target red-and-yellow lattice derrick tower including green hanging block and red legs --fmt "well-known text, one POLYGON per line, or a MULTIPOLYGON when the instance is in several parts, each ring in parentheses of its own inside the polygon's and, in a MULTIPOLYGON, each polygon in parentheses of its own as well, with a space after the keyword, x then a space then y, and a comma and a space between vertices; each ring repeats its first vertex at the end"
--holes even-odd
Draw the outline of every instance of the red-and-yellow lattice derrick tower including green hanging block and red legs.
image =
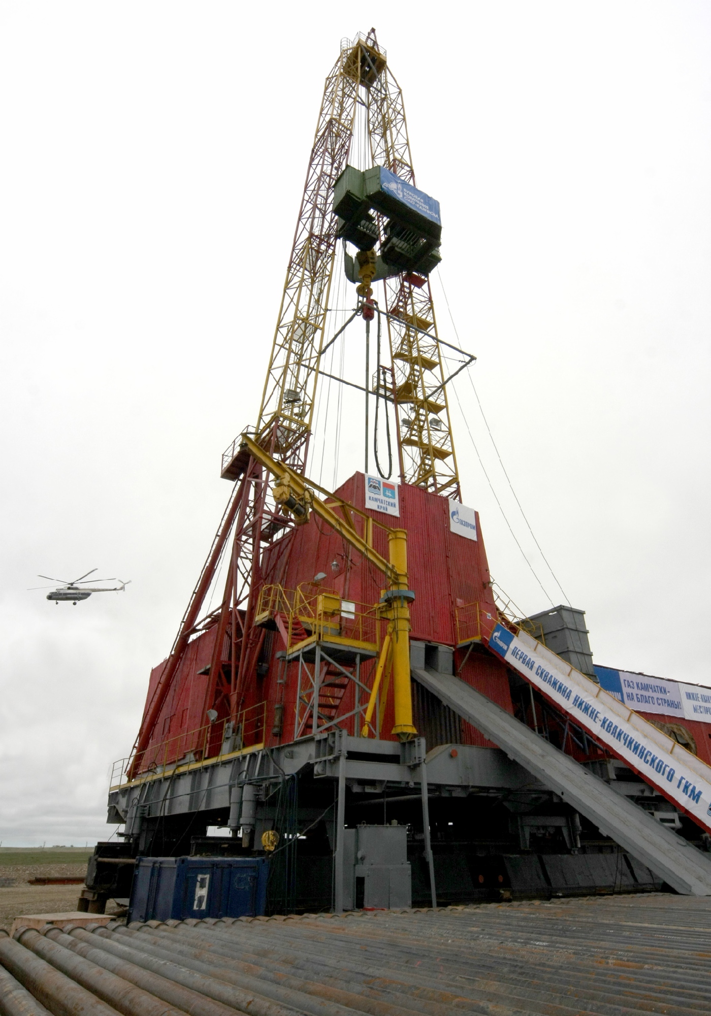
MULTIPOLYGON (((390 363, 385 368, 379 364, 371 394, 385 401, 386 411, 394 407, 400 482, 460 500, 447 378, 428 277, 440 260, 439 203, 414 185, 402 90, 372 28, 341 43, 326 78, 259 415, 256 426, 244 433, 275 461, 305 475, 321 358, 334 338, 328 334, 329 297, 342 257, 346 274, 359 283, 350 290, 353 310, 346 324, 363 318, 370 335, 377 314, 379 346, 381 326, 387 335, 390 363), (363 165, 351 165, 356 163, 363 165), (387 176, 382 185, 381 171, 387 176), (398 189, 404 190, 404 202, 398 202, 398 189), (354 256, 348 246, 356 247, 354 256), (380 300, 373 291, 379 283, 380 300)), ((372 438, 368 404, 367 399, 367 447, 372 438)), ((242 435, 223 453, 221 475, 233 482, 233 491, 152 689, 137 756, 154 735, 176 673, 197 634, 216 626, 203 715, 210 709, 220 716, 229 711, 235 720, 258 664, 264 631, 255 627, 254 617, 264 547, 294 526, 295 519, 275 503, 263 463, 249 454, 242 435), (221 605, 200 619, 231 539, 232 565, 221 605)))

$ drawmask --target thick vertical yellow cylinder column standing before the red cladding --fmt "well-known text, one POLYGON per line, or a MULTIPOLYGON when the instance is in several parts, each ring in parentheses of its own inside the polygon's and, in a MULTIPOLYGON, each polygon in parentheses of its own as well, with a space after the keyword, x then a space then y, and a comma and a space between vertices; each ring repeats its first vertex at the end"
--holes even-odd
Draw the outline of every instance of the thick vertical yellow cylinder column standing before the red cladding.
POLYGON ((397 595, 397 589, 407 590, 407 531, 391 529, 388 532, 390 564, 398 574, 397 585, 392 584, 388 598, 392 611, 392 677, 395 705, 395 725, 392 733, 400 741, 409 741, 417 733, 412 725, 412 692, 409 675, 409 599, 410 595, 397 595))

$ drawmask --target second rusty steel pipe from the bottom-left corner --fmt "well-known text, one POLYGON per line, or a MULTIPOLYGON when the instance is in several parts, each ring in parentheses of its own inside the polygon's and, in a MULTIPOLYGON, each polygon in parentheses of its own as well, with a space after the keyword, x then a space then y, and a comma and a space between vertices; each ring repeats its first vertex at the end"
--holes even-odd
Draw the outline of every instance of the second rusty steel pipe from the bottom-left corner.
MULTIPOLYGON (((40 936, 42 938, 42 936, 40 936)), ((19 942, 0 937, 0 963, 55 1016, 116 1016, 116 1010, 19 942)))

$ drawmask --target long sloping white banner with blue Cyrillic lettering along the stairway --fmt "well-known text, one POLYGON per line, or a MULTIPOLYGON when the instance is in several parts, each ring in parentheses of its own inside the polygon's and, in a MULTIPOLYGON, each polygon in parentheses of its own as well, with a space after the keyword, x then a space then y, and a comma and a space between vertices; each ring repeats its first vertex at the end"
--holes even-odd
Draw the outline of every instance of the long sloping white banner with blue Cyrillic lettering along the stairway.
POLYGON ((497 625, 489 645, 571 719, 711 832, 711 768, 696 755, 530 635, 512 635, 497 625))

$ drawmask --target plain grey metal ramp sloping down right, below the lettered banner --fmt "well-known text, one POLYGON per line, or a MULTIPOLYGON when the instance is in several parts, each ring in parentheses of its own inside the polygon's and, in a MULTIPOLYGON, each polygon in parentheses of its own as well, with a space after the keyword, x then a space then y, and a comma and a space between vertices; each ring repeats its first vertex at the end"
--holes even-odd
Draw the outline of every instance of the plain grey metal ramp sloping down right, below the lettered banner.
POLYGON ((711 896, 711 855, 660 825, 459 678, 414 668, 412 677, 677 892, 711 896))

